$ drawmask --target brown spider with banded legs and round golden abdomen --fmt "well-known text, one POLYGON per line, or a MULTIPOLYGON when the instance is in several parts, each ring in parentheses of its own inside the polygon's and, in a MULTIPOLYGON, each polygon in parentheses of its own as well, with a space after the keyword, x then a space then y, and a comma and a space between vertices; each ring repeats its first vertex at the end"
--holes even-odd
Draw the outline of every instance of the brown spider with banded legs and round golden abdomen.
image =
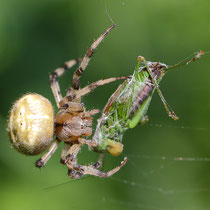
MULTIPOLYGON (((45 151, 51 144, 48 152, 36 161, 36 167, 45 166, 61 141, 64 142, 61 163, 67 165, 68 175, 71 178, 81 178, 86 174, 106 178, 119 171, 126 164, 127 158, 116 168, 108 172, 101 171, 99 168, 103 162, 103 153, 99 155, 98 161, 94 164, 79 165, 77 162, 77 156, 82 145, 86 144, 91 148, 98 146, 97 141, 84 137, 91 136, 92 117, 100 111, 98 109, 86 111, 81 98, 98 86, 127 78, 113 77, 98 80, 84 88, 80 88, 79 85, 79 79, 88 66, 94 50, 114 27, 115 25, 111 25, 92 43, 83 59, 70 60, 50 75, 50 86, 59 109, 55 117, 51 103, 38 94, 26 94, 13 105, 8 120, 8 133, 12 145, 19 152, 35 155, 45 151), (73 74, 72 86, 67 89, 66 96, 63 97, 57 79, 77 63, 80 64, 73 74), (55 141, 52 143, 54 138, 55 141)), ((112 151, 114 150, 115 146, 113 145, 112 151)), ((113 155, 115 155, 114 152, 113 155)))

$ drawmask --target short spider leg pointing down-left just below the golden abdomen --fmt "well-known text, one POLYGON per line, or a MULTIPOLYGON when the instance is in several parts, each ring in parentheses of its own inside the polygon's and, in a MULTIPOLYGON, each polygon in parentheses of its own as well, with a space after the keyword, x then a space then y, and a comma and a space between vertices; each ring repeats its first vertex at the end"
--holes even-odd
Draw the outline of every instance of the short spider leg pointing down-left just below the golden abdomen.
POLYGON ((39 160, 36 161, 35 166, 41 168, 45 166, 47 161, 52 157, 54 152, 57 150, 60 141, 56 139, 50 146, 47 153, 45 153, 39 160))

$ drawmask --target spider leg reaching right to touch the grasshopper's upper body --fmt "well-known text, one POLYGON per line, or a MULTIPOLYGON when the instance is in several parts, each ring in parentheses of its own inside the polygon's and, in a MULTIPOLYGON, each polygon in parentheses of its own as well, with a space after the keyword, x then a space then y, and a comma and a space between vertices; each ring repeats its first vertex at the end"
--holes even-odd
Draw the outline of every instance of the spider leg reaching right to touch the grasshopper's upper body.
POLYGON ((102 79, 102 80, 98 80, 96 82, 91 83, 90 85, 87 85, 86 87, 82 88, 81 90, 78 90, 75 92, 75 99, 80 98, 88 93, 90 93, 91 91, 93 91, 95 88, 108 84, 110 82, 114 82, 117 80, 122 80, 122 79, 127 79, 128 77, 112 77, 112 78, 108 78, 108 79, 102 79))

